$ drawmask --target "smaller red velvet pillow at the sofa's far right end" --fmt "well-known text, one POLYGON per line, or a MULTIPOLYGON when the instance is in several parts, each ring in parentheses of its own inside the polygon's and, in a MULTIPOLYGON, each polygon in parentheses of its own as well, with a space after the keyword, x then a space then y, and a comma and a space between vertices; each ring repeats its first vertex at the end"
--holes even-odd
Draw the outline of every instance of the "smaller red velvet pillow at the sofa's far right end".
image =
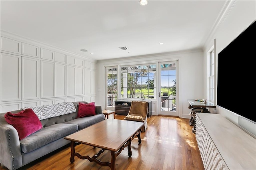
POLYGON ((89 104, 79 102, 77 118, 96 115, 95 108, 94 102, 89 104))

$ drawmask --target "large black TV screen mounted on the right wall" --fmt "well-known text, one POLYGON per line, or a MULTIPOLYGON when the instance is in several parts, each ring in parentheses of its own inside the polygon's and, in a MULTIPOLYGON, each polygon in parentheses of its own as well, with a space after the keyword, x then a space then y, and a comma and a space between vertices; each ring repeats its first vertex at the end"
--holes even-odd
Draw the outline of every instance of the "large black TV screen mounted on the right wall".
POLYGON ((218 53, 217 73, 217 105, 254 123, 255 58, 256 20, 218 53))

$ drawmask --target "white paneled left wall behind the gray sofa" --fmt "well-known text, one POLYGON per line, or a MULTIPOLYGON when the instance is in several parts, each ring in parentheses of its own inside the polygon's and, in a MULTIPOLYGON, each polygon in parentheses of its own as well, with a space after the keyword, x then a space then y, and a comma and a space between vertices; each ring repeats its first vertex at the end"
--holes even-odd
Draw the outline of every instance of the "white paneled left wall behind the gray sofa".
POLYGON ((7 32, 0 39, 0 113, 96 100, 94 60, 7 32))

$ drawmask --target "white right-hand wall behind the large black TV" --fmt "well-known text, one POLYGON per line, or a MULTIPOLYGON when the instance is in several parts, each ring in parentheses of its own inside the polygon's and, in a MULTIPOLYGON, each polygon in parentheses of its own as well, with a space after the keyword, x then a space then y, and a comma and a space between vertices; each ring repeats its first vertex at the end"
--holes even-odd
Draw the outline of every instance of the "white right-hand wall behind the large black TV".
MULTIPOLYGON (((212 47, 214 39, 216 39, 216 57, 218 53, 222 51, 230 42, 232 42, 241 32, 243 32, 252 22, 256 20, 256 1, 233 1, 230 4, 229 11, 226 15, 223 16, 222 21, 216 28, 216 32, 213 36, 205 43, 204 46, 204 65, 207 61, 207 51, 212 47)), ((217 58, 216 58, 216 61, 217 58)), ((238 59, 238 61, 242 61, 238 59)), ((218 63, 215 62, 215 69, 217 70, 218 63)), ((206 67, 204 67, 206 72, 206 67)), ((216 75, 216 74, 215 74, 216 75)), ((217 81, 217 76, 216 76, 217 81)), ((204 74, 204 96, 207 96, 207 75, 204 74)), ((228 96, 227 96, 228 98, 228 96)), ((242 106, 243 107, 243 106, 242 106)), ((216 109, 210 110, 212 113, 218 113, 226 117, 235 125, 238 125, 238 119, 240 119, 236 114, 223 109, 221 107, 216 107, 216 109)), ((246 121, 247 127, 246 130, 249 131, 249 134, 252 133, 255 135, 256 125, 246 121)))

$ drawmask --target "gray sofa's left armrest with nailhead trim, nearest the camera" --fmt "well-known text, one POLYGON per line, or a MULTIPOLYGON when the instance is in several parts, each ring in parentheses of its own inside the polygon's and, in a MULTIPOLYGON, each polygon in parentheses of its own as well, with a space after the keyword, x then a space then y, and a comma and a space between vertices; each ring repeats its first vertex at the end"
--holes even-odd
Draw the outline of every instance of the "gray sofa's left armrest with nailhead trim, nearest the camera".
POLYGON ((22 166, 18 132, 12 125, 3 121, 0 125, 0 162, 10 170, 22 166))

